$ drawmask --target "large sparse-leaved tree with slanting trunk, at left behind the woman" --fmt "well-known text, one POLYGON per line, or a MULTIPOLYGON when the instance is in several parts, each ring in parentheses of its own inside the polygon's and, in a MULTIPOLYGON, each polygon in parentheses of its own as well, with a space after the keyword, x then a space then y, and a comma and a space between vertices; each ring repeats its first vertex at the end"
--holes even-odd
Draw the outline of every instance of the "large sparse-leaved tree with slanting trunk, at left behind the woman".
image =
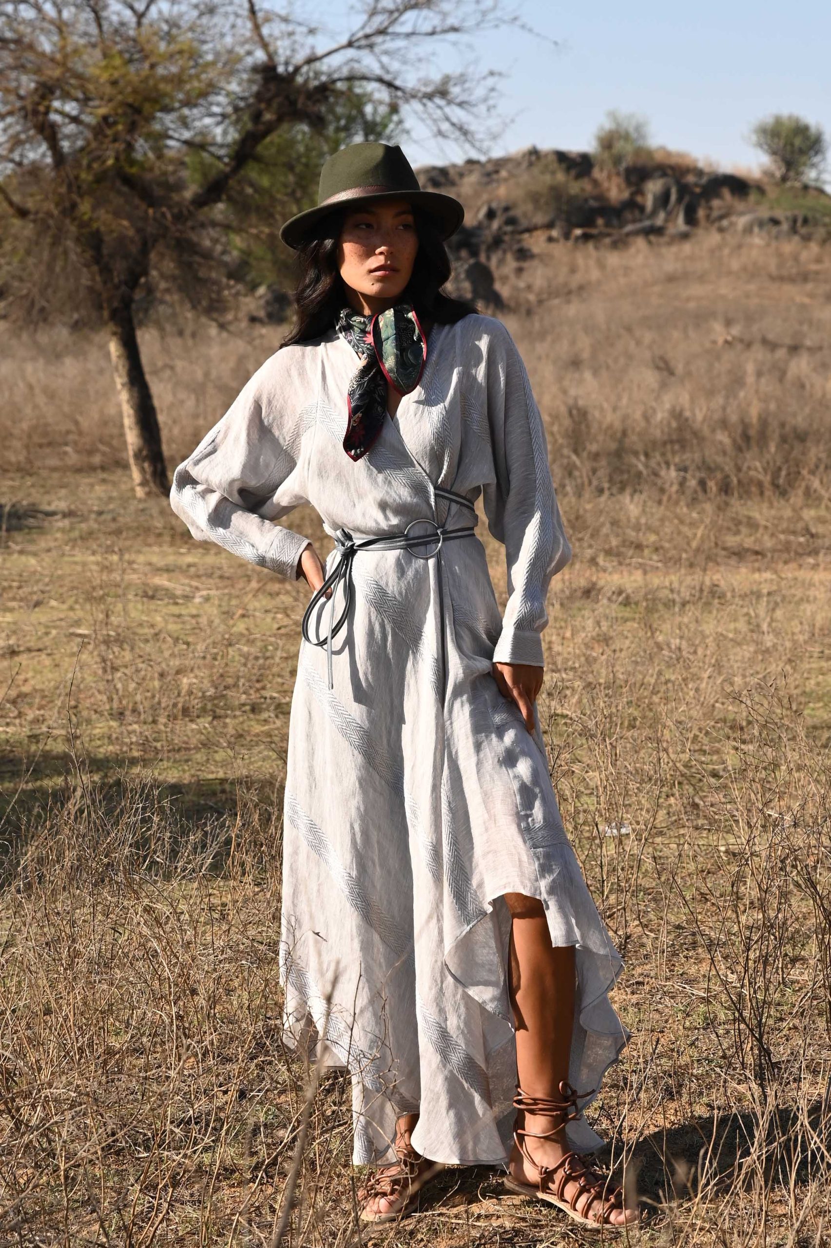
POLYGON ((307 202, 321 152, 364 120, 407 112, 474 147, 499 132, 497 71, 440 72, 430 50, 515 21, 500 0, 349 14, 332 35, 257 0, 0 0, 4 311, 106 327, 140 497, 167 472, 136 301, 216 303, 246 195, 275 217, 278 186, 307 202))

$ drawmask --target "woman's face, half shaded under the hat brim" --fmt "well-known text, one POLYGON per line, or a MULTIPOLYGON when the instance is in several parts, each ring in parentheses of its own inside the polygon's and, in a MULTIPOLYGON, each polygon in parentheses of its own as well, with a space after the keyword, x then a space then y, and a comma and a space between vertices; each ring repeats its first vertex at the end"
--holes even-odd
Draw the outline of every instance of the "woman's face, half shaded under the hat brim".
POLYGON ((364 314, 392 307, 407 286, 418 251, 407 200, 348 208, 338 241, 338 268, 352 306, 364 314))

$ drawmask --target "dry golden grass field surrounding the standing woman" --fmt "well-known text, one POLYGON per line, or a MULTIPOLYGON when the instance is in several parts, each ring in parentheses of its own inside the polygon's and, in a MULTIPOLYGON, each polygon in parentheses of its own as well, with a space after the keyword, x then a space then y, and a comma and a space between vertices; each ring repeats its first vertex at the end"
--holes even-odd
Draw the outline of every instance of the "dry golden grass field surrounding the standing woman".
MULTIPOLYGON (((633 1031, 591 1113, 659 1211, 630 1238, 819 1248, 831 252, 538 251, 497 281, 575 552, 540 713, 633 1031)), ((145 332, 171 467, 278 341, 145 332)), ((596 1242, 484 1169, 358 1232, 348 1082, 309 1102, 278 1036, 307 587, 134 499, 97 337, 0 327, 0 1246, 596 1242)))

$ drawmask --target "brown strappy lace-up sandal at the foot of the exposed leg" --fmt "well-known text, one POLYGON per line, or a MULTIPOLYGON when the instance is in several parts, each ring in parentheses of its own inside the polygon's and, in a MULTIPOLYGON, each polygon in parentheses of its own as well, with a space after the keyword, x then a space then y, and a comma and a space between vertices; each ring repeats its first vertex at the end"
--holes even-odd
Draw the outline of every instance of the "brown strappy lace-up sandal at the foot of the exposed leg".
POLYGON ((609 1187, 610 1176, 603 1173, 591 1153, 568 1152, 554 1166, 538 1166, 529 1154, 525 1138, 553 1139, 555 1136, 559 1136, 566 1122, 580 1117, 578 1101, 591 1096, 591 1092, 575 1092, 571 1085, 563 1080, 560 1083, 560 1096, 563 1099, 555 1101, 552 1097, 529 1096, 522 1088, 517 1090, 517 1096, 514 1097, 515 1109, 522 1109, 524 1113, 547 1114, 560 1121, 550 1131, 528 1131, 525 1127, 514 1128, 517 1147, 529 1166, 537 1171, 539 1178, 537 1187, 534 1187, 532 1183, 520 1183, 513 1174, 508 1174, 504 1179, 507 1191, 515 1192, 518 1196, 533 1196, 540 1201, 547 1201, 549 1204, 555 1204, 558 1209, 563 1209, 575 1222, 581 1223, 584 1227, 594 1227, 596 1231, 615 1231, 623 1229, 624 1226, 633 1226, 634 1219, 633 1222, 620 1224, 608 1221, 615 1209, 625 1208, 624 1193, 619 1186, 609 1187), (573 1196, 566 1199, 563 1193, 569 1183, 574 1183, 575 1189, 573 1196), (584 1204, 585 1212, 578 1213, 576 1206, 584 1196, 589 1197, 584 1204), (600 1202, 600 1217, 586 1218, 585 1213, 590 1212, 596 1202, 600 1202))

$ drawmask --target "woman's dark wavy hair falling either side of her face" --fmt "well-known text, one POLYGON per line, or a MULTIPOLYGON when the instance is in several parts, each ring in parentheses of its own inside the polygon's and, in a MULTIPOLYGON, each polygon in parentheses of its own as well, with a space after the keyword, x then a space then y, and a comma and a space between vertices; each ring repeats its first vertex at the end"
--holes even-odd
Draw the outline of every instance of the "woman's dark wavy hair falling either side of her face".
MULTIPOLYGON (((294 290, 294 324, 281 347, 294 342, 312 342, 334 324, 334 318, 347 303, 343 278, 338 271, 338 240, 347 208, 337 208, 323 217, 312 237, 298 248, 299 276, 294 290)), ((413 205, 418 235, 418 251, 409 282, 401 293, 415 308, 422 324, 425 322, 453 324, 470 312, 478 312, 469 300, 455 300, 442 291, 452 265, 433 217, 413 205)))

